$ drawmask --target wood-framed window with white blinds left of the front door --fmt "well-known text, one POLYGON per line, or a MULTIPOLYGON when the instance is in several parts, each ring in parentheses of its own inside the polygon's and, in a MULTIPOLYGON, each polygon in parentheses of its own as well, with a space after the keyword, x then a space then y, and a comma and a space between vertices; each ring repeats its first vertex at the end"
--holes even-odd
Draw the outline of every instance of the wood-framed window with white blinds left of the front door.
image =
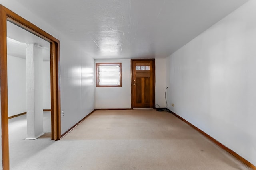
POLYGON ((122 64, 96 63, 96 87, 122 87, 122 64))

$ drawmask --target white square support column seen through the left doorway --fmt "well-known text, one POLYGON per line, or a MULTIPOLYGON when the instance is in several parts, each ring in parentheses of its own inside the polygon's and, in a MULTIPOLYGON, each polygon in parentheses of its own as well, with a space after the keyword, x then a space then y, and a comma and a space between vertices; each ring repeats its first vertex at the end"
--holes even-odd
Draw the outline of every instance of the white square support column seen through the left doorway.
POLYGON ((42 48, 26 45, 27 80, 27 140, 36 139, 43 132, 42 48))

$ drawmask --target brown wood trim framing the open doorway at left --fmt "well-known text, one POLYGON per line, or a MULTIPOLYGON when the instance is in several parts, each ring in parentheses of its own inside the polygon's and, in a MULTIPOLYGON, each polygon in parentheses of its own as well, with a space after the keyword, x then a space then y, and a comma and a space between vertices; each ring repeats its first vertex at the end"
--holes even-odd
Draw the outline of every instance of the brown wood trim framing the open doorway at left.
POLYGON ((0 5, 0 95, 1 95, 1 127, 2 127, 2 164, 3 170, 9 170, 8 140, 8 84, 7 84, 7 21, 37 35, 50 43, 51 74, 51 117, 52 139, 61 137, 60 129, 60 41, 46 33, 36 25, 18 16, 8 8, 0 5))

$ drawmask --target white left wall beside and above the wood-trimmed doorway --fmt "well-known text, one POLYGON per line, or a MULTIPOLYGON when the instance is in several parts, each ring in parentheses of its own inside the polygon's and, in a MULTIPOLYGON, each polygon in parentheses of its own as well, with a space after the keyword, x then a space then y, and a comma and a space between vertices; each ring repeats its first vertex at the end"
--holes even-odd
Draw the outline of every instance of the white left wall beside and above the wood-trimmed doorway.
POLYGON ((87 80, 86 76, 94 74, 94 59, 86 55, 77 44, 49 25, 47 21, 26 9, 18 0, 0 0, 0 4, 60 40, 61 110, 66 111, 65 116, 61 119, 61 133, 63 134, 95 108, 94 76, 91 79, 93 80, 91 84, 86 83, 86 81, 91 81, 87 80), (79 68, 92 71, 92 73, 82 73, 81 71, 80 81, 82 83, 80 84, 76 83, 79 76, 74 73, 79 68), (91 68, 93 69, 91 70, 91 68))

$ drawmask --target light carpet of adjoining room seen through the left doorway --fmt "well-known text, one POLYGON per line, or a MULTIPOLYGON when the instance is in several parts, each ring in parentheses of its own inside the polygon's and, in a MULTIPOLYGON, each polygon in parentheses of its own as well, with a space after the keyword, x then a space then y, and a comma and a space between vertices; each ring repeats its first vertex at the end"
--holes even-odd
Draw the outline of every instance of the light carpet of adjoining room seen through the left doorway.
MULTIPOLYGON (((44 135, 45 139, 24 140, 27 137, 26 115, 14 117, 8 121, 10 169, 54 143, 54 141, 50 140, 51 137, 46 137, 46 135, 44 135)), ((51 131, 50 111, 44 112, 43 125, 44 132, 49 134, 51 131)))

